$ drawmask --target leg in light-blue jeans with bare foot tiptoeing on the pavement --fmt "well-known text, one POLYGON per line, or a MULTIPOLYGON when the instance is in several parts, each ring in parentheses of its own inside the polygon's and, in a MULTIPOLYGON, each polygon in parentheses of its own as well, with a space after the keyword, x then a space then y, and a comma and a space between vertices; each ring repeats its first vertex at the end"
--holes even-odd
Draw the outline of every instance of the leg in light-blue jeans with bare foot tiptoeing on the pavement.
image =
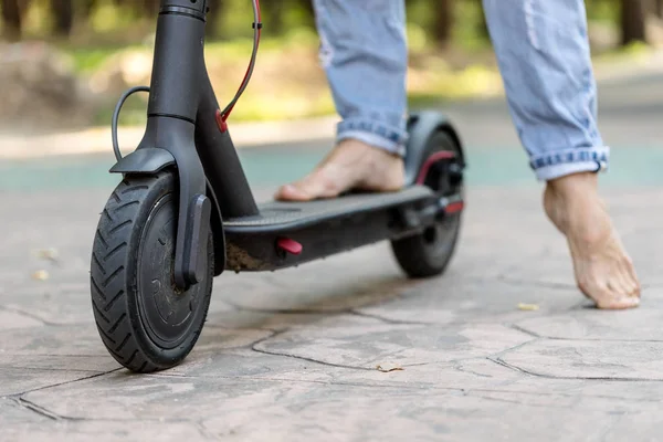
POLYGON ((631 259, 598 193, 609 161, 598 129, 582 0, 484 0, 511 114, 544 207, 567 236, 580 290, 601 308, 640 302, 631 259))

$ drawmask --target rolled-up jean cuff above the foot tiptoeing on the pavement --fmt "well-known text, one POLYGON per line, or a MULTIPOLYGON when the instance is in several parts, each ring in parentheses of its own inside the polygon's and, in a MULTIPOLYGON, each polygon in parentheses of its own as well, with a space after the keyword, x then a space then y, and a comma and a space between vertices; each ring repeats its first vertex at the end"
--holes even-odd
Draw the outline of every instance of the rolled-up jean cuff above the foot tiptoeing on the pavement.
POLYGON ((567 175, 599 172, 608 169, 610 148, 568 149, 532 158, 529 166, 539 181, 567 175))

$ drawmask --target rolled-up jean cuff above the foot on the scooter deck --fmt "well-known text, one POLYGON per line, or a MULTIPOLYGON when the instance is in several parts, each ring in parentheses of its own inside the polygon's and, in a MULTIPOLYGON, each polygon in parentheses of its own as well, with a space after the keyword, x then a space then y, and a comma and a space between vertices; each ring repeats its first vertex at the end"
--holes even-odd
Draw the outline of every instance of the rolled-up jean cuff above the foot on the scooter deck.
POLYGON ((369 120, 344 120, 337 126, 337 140, 354 138, 391 154, 404 156, 408 133, 369 120))

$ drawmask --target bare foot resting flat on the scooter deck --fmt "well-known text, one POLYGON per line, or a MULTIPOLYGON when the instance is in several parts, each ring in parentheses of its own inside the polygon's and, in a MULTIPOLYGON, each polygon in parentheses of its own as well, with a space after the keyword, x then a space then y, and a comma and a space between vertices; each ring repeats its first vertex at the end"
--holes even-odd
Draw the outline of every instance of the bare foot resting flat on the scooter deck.
POLYGON ((347 190, 398 191, 404 183, 401 157, 365 143, 340 141, 304 179, 283 186, 275 194, 282 201, 334 198, 347 190))

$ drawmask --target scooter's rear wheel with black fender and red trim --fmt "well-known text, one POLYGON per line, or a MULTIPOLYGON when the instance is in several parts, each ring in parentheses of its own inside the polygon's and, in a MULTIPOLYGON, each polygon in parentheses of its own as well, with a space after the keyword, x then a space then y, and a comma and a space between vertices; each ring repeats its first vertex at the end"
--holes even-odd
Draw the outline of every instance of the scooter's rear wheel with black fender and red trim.
MULTIPOLYGON (((446 131, 435 131, 427 141, 425 155, 422 157, 420 170, 425 169, 423 185, 430 187, 440 198, 460 196, 463 201, 462 152, 459 144, 446 131), (427 161, 441 152, 453 155, 449 155, 449 159, 427 165, 427 161)), ((442 274, 453 257, 460 235, 461 218, 462 210, 448 213, 422 233, 392 241, 391 248, 401 269, 410 277, 442 274)))

